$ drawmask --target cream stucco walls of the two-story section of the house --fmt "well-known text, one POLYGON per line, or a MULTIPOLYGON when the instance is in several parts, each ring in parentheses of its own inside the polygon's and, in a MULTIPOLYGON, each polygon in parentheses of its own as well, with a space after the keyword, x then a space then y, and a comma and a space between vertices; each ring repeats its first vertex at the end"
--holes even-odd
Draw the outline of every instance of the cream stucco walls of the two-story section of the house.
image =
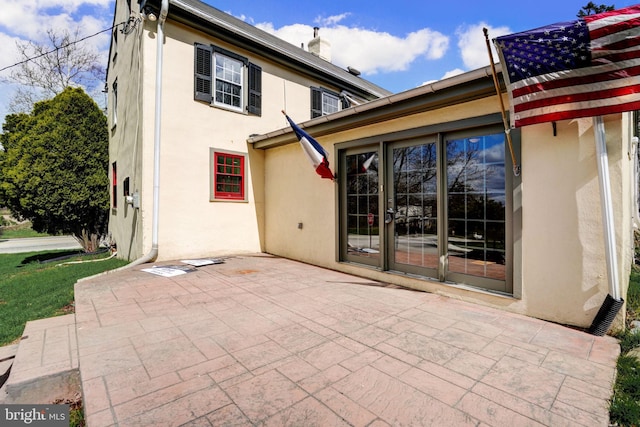
MULTIPOLYGON (((118 99, 119 117, 123 111, 136 110, 135 99, 141 99, 140 114, 136 110, 135 116, 126 119, 131 125, 139 126, 139 137, 133 138, 134 133, 128 126, 126 131, 125 126, 121 129, 119 118, 110 150, 110 161, 118 162, 119 192, 122 179, 130 175, 135 176, 135 189, 140 192, 140 209, 119 200, 118 208, 111 212, 110 230, 119 256, 130 260, 148 253, 152 247, 157 24, 143 21, 143 25, 144 32, 138 35, 139 50, 133 49, 133 42, 127 41, 124 46, 125 43, 119 41, 118 59, 126 57, 127 60, 114 67, 112 75, 112 78, 118 77, 119 85, 120 81, 136 79, 138 74, 142 82, 142 86, 132 84, 122 91, 119 86, 118 99), (138 63, 138 58, 143 60, 138 63), (136 93, 138 89, 140 96, 136 93)), ((246 140, 249 135, 288 126, 281 113, 283 109, 296 120, 308 120, 309 87, 318 83, 170 20, 165 25, 165 36, 158 260, 260 252, 264 248, 265 153, 253 150, 246 140), (194 101, 196 42, 215 44, 262 67, 260 117, 194 101), (211 148, 248 154, 246 202, 210 200, 211 148)))

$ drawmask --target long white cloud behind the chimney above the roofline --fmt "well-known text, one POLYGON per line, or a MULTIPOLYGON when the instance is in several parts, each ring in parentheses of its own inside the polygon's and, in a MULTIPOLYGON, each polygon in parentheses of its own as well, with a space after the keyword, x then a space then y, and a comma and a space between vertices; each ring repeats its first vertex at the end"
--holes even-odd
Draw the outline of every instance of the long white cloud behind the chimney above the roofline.
MULTIPOLYGON (((346 15, 338 15, 335 22, 346 15)), ((309 25, 293 24, 274 28, 271 23, 256 25, 258 28, 300 46, 313 38, 309 25)), ((423 28, 405 37, 364 28, 334 25, 320 29, 320 36, 331 43, 332 62, 341 67, 352 66, 363 74, 404 71, 419 57, 440 59, 449 47, 449 38, 442 33, 423 28)))

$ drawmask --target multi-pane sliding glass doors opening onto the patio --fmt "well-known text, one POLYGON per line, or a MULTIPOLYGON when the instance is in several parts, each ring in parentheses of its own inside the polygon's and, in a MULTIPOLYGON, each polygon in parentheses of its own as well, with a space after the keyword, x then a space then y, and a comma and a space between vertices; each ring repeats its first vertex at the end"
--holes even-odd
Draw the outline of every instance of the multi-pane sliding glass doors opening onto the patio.
POLYGON ((339 158, 341 260, 512 292, 500 128, 383 140, 339 158))

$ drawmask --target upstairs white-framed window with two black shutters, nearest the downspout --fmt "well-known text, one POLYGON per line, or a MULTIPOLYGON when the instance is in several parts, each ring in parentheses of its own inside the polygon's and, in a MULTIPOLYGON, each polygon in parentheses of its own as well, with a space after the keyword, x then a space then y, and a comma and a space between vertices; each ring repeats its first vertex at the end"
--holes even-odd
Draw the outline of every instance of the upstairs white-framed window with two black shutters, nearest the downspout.
POLYGON ((194 99, 261 115, 262 69, 233 52, 196 43, 194 99))

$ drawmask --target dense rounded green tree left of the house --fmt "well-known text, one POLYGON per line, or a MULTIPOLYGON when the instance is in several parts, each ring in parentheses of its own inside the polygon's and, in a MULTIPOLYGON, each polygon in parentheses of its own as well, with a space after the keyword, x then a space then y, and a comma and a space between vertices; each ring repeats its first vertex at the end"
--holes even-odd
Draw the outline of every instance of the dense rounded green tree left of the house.
POLYGON ((80 88, 5 118, 0 200, 33 229, 97 249, 109 209, 107 119, 80 88))

